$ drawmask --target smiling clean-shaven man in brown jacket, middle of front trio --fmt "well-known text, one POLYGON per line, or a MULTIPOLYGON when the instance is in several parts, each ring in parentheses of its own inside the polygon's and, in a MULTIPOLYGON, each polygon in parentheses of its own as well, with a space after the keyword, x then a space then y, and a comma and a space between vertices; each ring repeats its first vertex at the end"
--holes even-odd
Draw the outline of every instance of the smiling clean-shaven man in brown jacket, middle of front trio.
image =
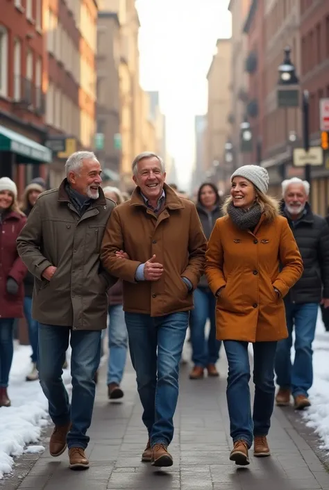
POLYGON ((167 446, 174 435, 178 366, 206 247, 194 204, 178 197, 165 177, 156 154, 135 158, 137 187, 113 211, 101 247, 103 266, 124 279, 130 355, 149 432, 142 461, 154 466, 173 464, 167 446))

